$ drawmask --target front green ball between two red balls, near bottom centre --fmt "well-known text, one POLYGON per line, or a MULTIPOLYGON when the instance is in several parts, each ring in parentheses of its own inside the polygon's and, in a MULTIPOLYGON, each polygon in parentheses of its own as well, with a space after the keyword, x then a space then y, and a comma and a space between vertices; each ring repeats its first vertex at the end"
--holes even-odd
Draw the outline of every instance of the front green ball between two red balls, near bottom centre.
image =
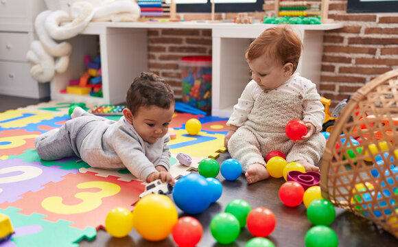
POLYGON ((231 244, 239 237, 239 222, 231 213, 218 213, 210 222, 210 232, 218 243, 231 244))

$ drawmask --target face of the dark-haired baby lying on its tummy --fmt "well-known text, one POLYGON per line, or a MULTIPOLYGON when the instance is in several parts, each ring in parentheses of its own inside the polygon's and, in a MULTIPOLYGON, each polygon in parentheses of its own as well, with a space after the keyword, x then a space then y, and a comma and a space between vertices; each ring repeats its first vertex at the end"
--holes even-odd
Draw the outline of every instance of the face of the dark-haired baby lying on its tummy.
POLYGON ((167 134, 173 114, 174 104, 168 109, 141 106, 132 117, 132 125, 144 141, 155 143, 167 134))

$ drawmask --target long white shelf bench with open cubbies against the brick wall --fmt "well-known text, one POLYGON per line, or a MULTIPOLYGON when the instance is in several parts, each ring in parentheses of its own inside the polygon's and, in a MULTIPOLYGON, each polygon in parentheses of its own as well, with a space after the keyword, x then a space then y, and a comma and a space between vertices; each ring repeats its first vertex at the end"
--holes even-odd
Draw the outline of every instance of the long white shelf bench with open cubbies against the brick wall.
MULTIPOLYGON (((132 79, 148 70, 148 29, 209 29, 213 39, 212 115, 229 117, 233 105, 250 80, 244 53, 253 38, 272 24, 235 23, 90 23, 82 34, 69 40, 73 46, 66 73, 51 81, 51 99, 65 99, 93 104, 125 102, 126 90, 132 79), (102 91, 104 97, 60 93, 84 73, 84 54, 97 53, 100 40, 102 91)), ((323 32, 342 27, 342 23, 292 25, 301 36, 304 50, 297 71, 319 84, 323 54, 323 32)))

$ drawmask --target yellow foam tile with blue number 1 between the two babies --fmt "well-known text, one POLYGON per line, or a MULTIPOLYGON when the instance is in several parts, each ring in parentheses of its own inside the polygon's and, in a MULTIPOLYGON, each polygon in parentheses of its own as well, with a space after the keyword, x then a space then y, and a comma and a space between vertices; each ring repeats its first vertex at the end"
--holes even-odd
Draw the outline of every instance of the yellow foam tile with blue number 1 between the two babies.
POLYGON ((175 130, 177 138, 169 141, 170 152, 191 154, 191 156, 217 158, 220 152, 225 152, 224 134, 209 134, 199 132, 190 135, 185 129, 175 130))

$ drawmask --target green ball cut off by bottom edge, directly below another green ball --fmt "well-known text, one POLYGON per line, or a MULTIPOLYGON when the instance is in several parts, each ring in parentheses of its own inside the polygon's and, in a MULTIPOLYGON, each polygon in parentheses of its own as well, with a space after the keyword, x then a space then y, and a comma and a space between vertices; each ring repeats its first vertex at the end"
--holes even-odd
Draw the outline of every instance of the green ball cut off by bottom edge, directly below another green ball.
POLYGON ((337 247, 338 238, 329 226, 313 226, 305 233, 305 247, 337 247))

